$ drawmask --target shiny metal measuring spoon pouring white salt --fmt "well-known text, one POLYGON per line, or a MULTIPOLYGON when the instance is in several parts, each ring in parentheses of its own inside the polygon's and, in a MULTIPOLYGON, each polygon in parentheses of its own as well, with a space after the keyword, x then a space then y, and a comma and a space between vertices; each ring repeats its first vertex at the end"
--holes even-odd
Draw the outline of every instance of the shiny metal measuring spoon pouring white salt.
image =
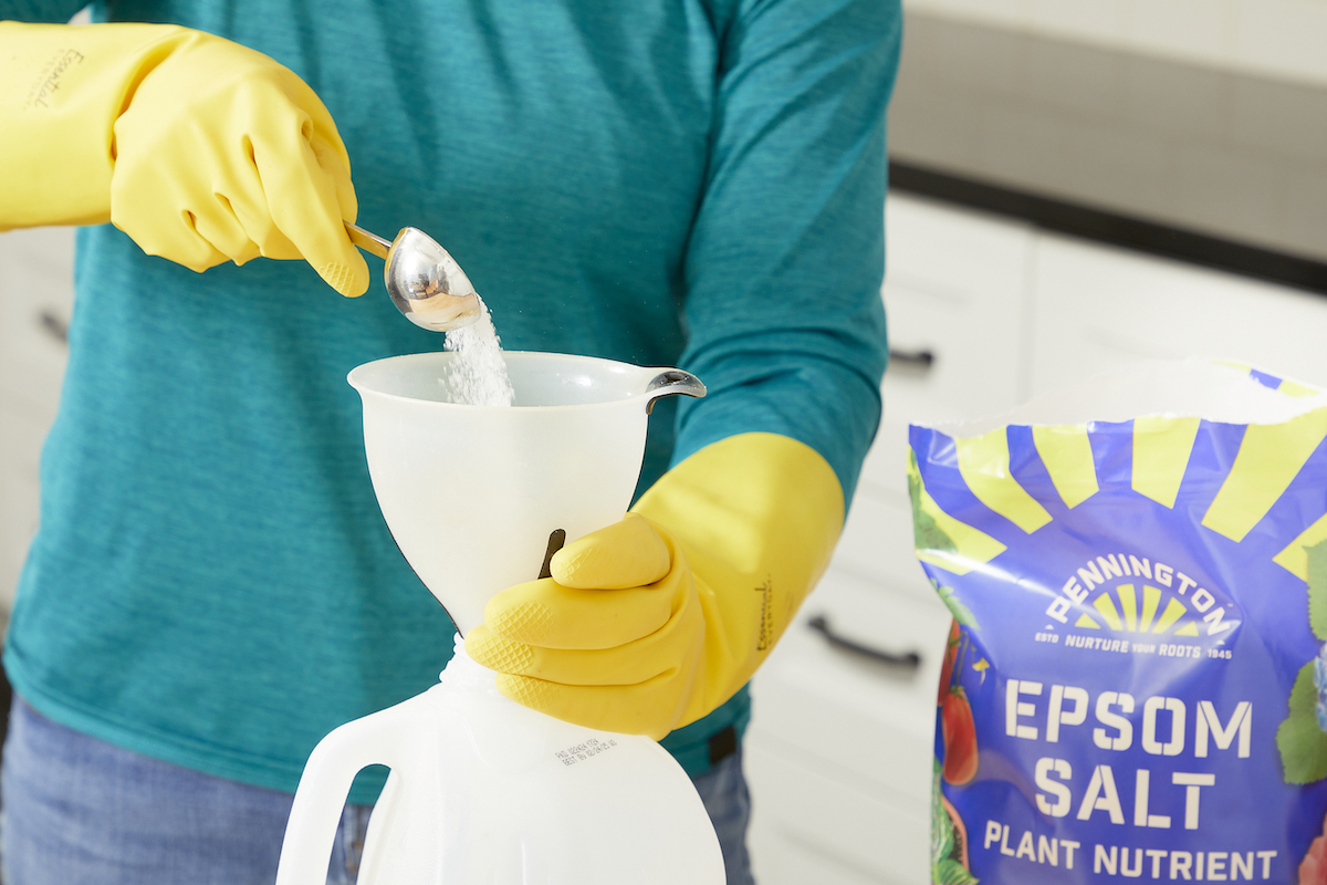
POLYGON ((447 332, 479 318, 479 296, 470 277, 438 241, 417 227, 403 227, 387 241, 345 223, 350 241, 386 261, 382 279, 397 309, 421 329, 447 332))

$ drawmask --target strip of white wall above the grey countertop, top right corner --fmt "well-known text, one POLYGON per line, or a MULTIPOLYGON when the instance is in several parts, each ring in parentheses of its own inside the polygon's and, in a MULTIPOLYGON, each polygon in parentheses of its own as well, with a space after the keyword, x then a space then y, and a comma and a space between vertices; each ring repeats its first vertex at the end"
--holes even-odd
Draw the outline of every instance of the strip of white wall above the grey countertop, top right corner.
POLYGON ((1327 0, 908 0, 912 11, 1327 85, 1327 0))

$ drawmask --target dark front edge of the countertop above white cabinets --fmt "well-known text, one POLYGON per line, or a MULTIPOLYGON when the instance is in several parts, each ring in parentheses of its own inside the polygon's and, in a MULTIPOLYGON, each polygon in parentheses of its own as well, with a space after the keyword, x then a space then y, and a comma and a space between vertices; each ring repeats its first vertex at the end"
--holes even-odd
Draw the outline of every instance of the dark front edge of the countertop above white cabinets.
POLYGON ((889 162, 889 187, 1018 218, 1056 234, 1327 295, 1327 263, 1287 252, 898 161, 889 162))

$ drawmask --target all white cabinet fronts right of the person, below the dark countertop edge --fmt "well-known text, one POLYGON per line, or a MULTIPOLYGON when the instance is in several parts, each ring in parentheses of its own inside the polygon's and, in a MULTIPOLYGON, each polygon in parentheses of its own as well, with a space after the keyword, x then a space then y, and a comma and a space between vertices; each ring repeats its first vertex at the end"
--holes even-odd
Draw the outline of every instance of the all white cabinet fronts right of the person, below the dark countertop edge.
POLYGON ((998 414, 1140 358, 1212 356, 1327 386, 1327 296, 890 195, 885 417, 829 572, 756 674, 747 735, 759 885, 929 881, 949 613, 912 549, 909 422, 998 414), (916 670, 832 647, 917 651, 916 670))

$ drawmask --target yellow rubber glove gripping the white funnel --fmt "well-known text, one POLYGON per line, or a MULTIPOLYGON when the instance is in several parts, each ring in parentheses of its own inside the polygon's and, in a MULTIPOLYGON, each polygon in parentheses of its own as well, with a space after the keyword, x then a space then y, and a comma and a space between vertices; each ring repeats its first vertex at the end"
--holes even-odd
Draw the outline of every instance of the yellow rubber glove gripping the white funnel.
POLYGON ((787 437, 730 437, 559 551, 551 579, 490 600, 466 651, 527 707, 660 739, 746 685, 841 528, 824 458, 787 437))

